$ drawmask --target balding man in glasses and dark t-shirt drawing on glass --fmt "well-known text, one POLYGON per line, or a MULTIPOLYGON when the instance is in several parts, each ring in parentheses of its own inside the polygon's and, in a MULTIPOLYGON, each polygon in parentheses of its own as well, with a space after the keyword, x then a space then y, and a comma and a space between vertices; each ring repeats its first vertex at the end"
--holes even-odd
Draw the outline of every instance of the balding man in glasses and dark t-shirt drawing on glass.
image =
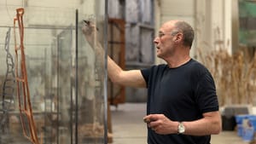
POLYGON ((221 131, 212 75, 189 56, 193 39, 188 23, 171 20, 154 39, 157 56, 166 64, 124 71, 108 57, 108 77, 113 83, 148 88, 143 118, 148 124, 148 144, 209 144, 211 135, 221 131))

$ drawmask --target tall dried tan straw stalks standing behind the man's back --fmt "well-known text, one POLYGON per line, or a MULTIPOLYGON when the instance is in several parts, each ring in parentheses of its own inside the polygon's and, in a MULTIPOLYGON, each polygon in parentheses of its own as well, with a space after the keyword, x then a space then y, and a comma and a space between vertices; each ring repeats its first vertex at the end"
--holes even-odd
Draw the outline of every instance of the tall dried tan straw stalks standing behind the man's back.
POLYGON ((256 57, 250 56, 247 49, 230 55, 219 49, 198 54, 202 63, 212 72, 220 106, 230 104, 253 104, 256 92, 256 57))

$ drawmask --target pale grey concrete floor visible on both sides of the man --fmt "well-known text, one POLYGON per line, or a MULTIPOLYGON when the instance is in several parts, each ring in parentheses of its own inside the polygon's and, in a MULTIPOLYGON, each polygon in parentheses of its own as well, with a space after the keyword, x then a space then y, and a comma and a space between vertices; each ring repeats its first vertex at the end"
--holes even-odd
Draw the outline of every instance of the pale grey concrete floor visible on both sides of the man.
MULTIPOLYGON (((146 144, 147 130, 143 123, 145 103, 125 103, 111 107, 113 144, 146 144)), ((212 144, 248 144, 236 135, 236 131, 222 131, 212 135, 212 144)))

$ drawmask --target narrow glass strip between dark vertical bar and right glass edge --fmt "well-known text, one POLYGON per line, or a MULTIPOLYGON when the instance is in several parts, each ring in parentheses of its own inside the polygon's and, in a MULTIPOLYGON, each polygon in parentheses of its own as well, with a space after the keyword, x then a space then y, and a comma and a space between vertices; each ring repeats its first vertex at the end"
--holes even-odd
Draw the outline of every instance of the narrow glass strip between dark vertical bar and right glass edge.
POLYGON ((98 55, 95 49, 103 50, 104 4, 100 0, 84 2, 92 4, 90 9, 79 13, 79 30, 87 25, 96 26, 95 36, 89 44, 83 32, 79 31, 79 142, 103 143, 104 137, 104 55, 98 55), (96 6, 97 5, 97 6, 96 6), (85 12, 86 11, 86 12, 85 12))

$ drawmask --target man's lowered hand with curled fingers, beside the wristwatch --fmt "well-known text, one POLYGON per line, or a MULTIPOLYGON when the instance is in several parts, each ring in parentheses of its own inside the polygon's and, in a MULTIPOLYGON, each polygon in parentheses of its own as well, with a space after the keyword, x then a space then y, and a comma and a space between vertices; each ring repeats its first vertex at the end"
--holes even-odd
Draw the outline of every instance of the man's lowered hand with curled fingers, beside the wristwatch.
POLYGON ((148 128, 160 135, 177 134, 177 122, 166 118, 164 114, 149 114, 143 118, 148 128))

